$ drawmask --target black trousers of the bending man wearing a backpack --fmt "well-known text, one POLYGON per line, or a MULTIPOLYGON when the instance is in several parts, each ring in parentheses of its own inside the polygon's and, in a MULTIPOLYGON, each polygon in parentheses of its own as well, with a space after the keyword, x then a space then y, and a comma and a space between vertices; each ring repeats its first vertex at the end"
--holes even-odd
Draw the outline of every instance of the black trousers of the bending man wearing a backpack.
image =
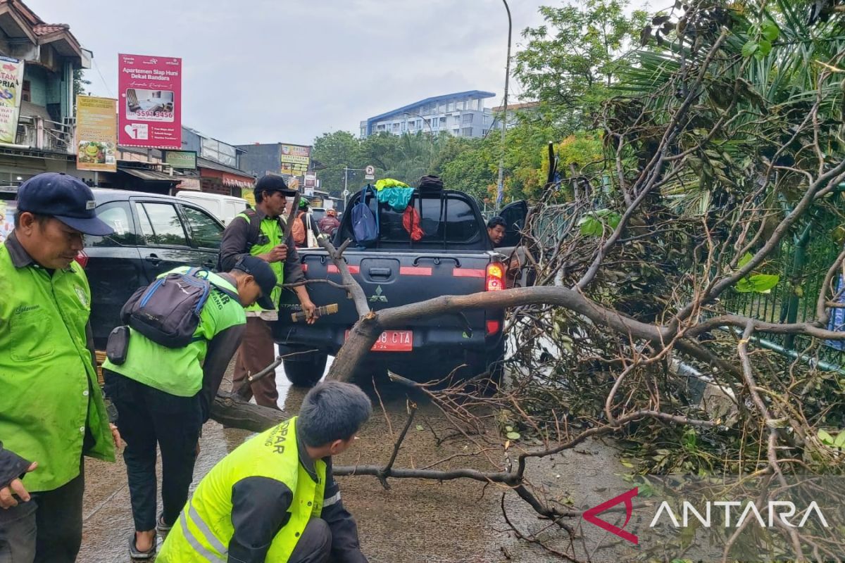
POLYGON ((163 519, 172 526, 188 501, 202 429, 200 393, 177 397, 105 370, 106 395, 117 407, 117 429, 126 442, 123 460, 132 516, 139 532, 155 528, 155 445, 161 449, 163 519))

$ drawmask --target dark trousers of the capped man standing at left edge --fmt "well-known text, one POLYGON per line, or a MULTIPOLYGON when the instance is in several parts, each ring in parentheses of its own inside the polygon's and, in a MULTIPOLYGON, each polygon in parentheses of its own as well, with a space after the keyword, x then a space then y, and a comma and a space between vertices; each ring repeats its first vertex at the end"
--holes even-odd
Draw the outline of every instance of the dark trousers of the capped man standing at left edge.
POLYGON ((73 563, 82 544, 85 474, 32 500, 0 508, 0 563, 73 563))

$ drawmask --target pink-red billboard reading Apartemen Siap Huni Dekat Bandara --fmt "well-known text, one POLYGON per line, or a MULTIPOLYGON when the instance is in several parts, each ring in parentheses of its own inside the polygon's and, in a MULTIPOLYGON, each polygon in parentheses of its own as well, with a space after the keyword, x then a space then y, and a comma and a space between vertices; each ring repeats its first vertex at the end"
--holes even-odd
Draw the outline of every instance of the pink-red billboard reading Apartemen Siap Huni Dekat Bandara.
POLYGON ((182 149, 182 59, 117 55, 120 144, 182 149))

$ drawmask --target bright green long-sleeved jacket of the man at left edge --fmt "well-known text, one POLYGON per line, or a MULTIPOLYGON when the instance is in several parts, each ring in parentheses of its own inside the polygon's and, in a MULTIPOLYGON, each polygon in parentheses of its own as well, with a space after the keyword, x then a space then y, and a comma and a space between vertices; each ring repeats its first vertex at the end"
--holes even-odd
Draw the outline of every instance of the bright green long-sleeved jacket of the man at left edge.
POLYGON ((0 439, 38 462, 27 490, 57 489, 79 475, 83 453, 114 461, 86 346, 88 279, 75 262, 41 268, 13 234, 0 244, 0 295, 0 439))

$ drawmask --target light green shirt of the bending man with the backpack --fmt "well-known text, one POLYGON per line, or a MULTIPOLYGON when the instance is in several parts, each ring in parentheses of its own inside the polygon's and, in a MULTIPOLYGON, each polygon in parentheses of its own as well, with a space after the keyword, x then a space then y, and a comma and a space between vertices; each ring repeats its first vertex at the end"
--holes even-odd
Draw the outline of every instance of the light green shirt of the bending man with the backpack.
MULTIPOLYGON (((188 266, 174 268, 162 273, 159 278, 168 273, 185 273, 188 269, 188 266)), ((197 394, 203 387, 202 364, 211 338, 226 328, 247 322, 240 301, 216 290, 215 285, 233 293, 237 293, 237 289, 214 273, 208 273, 208 279, 211 291, 199 313, 194 342, 183 348, 167 348, 130 328, 126 361, 115 365, 106 360, 103 368, 178 397, 193 397, 197 394)))

